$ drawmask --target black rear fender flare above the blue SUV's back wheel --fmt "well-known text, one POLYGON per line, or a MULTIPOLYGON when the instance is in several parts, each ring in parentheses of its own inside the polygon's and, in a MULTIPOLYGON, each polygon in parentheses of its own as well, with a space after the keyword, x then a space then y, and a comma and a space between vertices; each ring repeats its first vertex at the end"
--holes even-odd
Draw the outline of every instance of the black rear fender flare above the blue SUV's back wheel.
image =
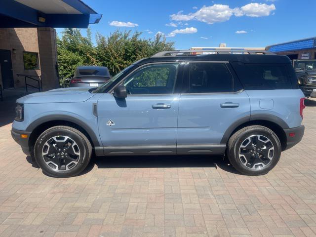
POLYGON ((289 126, 287 123, 282 119, 279 118, 275 115, 271 114, 253 114, 253 115, 248 115, 243 118, 238 119, 234 123, 232 123, 227 130, 225 131, 223 138, 221 140, 221 144, 226 144, 231 137, 232 133, 234 130, 239 127, 240 125, 251 122, 251 121, 256 121, 256 120, 261 120, 261 121, 267 121, 267 122, 272 122, 280 126, 282 129, 288 129, 289 126))

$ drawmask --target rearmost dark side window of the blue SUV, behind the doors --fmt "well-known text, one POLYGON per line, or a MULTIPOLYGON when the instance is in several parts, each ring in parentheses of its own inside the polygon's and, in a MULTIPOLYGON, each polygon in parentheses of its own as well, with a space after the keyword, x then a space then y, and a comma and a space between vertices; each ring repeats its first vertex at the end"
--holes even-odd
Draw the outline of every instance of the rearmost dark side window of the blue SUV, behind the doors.
POLYGON ((286 65, 235 63, 233 66, 246 90, 292 89, 286 65))

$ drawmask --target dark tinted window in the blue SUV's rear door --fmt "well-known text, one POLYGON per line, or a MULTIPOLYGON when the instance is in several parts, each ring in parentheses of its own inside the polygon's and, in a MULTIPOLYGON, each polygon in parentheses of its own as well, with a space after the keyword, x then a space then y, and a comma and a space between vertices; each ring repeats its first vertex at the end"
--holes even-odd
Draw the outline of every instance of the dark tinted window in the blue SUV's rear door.
POLYGON ((190 63, 189 93, 233 91, 233 77, 225 63, 190 63))

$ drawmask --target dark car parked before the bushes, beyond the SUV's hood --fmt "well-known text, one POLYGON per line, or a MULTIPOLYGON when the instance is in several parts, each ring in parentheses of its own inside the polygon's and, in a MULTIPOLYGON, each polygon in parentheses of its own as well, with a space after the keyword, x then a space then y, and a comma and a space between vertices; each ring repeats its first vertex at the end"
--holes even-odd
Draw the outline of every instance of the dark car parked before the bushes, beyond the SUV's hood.
POLYGON ((111 79, 111 75, 107 67, 80 66, 76 69, 74 76, 70 80, 69 87, 98 87, 109 79, 111 79))

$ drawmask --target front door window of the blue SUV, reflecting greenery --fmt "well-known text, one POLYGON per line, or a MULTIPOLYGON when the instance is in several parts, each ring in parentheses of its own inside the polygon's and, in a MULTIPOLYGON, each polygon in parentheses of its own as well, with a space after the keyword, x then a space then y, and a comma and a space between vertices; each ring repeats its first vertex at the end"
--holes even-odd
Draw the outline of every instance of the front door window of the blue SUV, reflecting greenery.
POLYGON ((127 94, 172 94, 178 64, 153 64, 137 70, 124 80, 127 94))

